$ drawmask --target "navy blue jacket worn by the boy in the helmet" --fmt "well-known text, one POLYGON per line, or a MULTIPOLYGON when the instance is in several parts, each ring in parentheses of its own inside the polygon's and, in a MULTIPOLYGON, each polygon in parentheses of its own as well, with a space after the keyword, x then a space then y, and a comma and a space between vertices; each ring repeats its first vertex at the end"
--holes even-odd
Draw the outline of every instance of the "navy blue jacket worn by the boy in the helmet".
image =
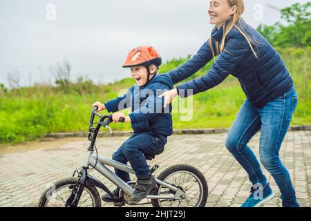
POLYGON ((156 75, 145 86, 135 84, 123 97, 105 103, 109 112, 131 107, 131 126, 135 133, 151 132, 154 135, 169 136, 173 133, 171 105, 163 108, 164 97, 158 97, 165 90, 173 89, 169 74, 156 75))

